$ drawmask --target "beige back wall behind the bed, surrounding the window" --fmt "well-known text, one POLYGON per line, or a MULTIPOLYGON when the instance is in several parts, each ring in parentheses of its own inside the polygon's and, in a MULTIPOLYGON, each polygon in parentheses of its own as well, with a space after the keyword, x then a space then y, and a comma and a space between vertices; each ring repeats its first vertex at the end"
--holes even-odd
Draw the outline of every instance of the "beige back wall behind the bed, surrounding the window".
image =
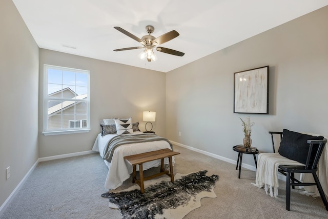
POLYGON ((91 150, 103 118, 131 116, 144 131, 142 111, 155 111, 154 130, 166 135, 165 73, 46 49, 40 49, 39 69, 39 157, 91 150), (90 132, 42 134, 44 64, 90 71, 90 132))

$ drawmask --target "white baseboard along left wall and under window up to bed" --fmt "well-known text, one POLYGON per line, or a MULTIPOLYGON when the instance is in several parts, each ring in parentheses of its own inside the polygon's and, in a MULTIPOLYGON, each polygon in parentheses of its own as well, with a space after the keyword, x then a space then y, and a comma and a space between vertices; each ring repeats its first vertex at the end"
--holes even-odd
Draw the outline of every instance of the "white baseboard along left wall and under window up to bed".
POLYGON ((56 156, 47 156, 47 157, 40 157, 40 158, 38 158, 37 161, 30 168, 30 170, 25 174, 25 176, 23 177, 23 179, 16 186, 16 188, 9 195, 9 197, 6 199, 6 201, 2 204, 2 206, 0 206, 0 216, 6 210, 6 208, 8 207, 8 205, 11 202, 11 200, 13 199, 13 197, 18 193, 20 187, 22 187, 22 185, 24 184, 24 182, 27 180, 27 178, 30 176, 30 174, 33 172, 33 170, 35 169, 35 167, 37 166, 37 164, 39 162, 57 160, 57 159, 60 159, 60 158, 66 158, 66 157, 72 157, 72 156, 86 155, 86 154, 91 154, 91 153, 98 153, 98 152, 96 152, 96 151, 82 151, 82 152, 76 152, 76 153, 61 154, 61 155, 56 155, 56 156))

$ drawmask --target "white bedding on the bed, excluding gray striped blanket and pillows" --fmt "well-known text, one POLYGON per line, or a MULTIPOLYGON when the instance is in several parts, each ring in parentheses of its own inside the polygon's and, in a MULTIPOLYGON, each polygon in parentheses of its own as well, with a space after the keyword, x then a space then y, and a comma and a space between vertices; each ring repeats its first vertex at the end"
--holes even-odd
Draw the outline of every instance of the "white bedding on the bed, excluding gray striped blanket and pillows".
MULTIPOLYGON (((142 132, 133 132, 133 134, 140 134, 142 132)), ((100 156, 103 157, 104 148, 108 144, 108 142, 116 136, 116 134, 107 134, 105 136, 101 136, 101 133, 98 134, 96 141, 93 145, 92 150, 98 151, 100 156)), ((109 163, 104 160, 105 164, 108 167, 108 174, 105 182, 105 189, 116 189, 124 181, 126 181, 130 174, 133 172, 133 167, 124 160, 124 156, 144 153, 148 151, 155 151, 164 148, 171 149, 171 146, 166 141, 154 141, 154 142, 145 142, 145 143, 135 143, 135 144, 127 144, 121 145, 114 150, 112 162, 109 163)), ((172 161, 174 164, 174 157, 172 157, 172 161)), ((169 164, 169 158, 164 159, 164 164, 169 164)), ((160 160, 147 162, 142 165, 142 169, 147 170, 152 167, 158 167, 160 165, 160 160)), ((137 170, 139 167, 137 165, 137 170)))

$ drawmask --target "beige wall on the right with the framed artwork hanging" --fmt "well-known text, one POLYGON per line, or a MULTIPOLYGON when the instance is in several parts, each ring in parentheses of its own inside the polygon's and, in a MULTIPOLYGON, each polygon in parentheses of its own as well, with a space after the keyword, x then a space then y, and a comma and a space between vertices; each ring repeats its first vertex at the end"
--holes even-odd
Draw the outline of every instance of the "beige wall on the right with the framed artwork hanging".
MULTIPOLYGON (((272 151, 268 131, 328 136, 328 7, 167 73, 167 137, 236 160, 242 126, 233 113, 234 72, 270 66, 270 114, 251 115, 253 146, 272 151), (181 132, 181 136, 178 132, 181 132)), ((243 163, 254 166, 252 156, 243 163)))

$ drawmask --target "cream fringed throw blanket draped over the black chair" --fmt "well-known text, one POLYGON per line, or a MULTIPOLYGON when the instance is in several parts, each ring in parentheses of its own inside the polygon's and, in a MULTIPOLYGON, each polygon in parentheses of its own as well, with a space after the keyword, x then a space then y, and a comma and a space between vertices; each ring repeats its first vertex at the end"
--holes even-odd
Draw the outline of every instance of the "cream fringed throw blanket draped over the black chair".
MULTIPOLYGON (((318 136, 312 133, 303 133, 318 136)), ((324 137, 328 139, 327 137, 324 137)), ((256 170, 255 183, 253 185, 262 188, 272 197, 278 197, 278 167, 279 165, 303 165, 297 161, 290 160, 279 153, 260 153, 256 170)), ((317 175, 322 186, 323 192, 328 196, 328 145, 326 144, 321 154, 317 175)), ((304 165, 303 165, 304 166, 304 165)), ((303 173, 300 175, 302 182, 314 182, 312 174, 303 173)), ((317 186, 304 186, 302 194, 320 196, 317 186)))

